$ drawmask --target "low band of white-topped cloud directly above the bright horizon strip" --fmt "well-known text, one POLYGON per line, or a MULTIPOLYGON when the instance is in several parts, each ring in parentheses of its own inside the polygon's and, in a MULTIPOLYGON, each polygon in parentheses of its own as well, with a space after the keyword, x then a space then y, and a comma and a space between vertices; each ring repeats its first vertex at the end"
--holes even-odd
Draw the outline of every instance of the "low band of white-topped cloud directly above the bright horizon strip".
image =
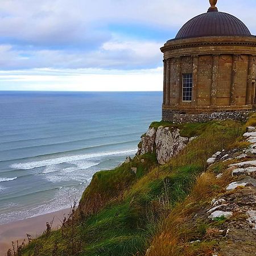
POLYGON ((93 51, 15 49, 0 45, 0 69, 103 68, 143 69, 161 65, 161 43, 114 39, 93 51))

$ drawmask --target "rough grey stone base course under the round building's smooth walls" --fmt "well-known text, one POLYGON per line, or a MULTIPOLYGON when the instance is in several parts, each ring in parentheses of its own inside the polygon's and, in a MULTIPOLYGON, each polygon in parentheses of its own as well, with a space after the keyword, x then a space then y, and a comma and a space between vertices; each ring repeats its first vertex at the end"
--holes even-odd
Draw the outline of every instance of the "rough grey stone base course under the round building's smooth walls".
POLYGON ((180 114, 174 110, 163 109, 162 120, 173 123, 204 123, 212 120, 233 119, 246 121, 253 110, 247 111, 231 111, 231 112, 214 112, 201 114, 180 114))

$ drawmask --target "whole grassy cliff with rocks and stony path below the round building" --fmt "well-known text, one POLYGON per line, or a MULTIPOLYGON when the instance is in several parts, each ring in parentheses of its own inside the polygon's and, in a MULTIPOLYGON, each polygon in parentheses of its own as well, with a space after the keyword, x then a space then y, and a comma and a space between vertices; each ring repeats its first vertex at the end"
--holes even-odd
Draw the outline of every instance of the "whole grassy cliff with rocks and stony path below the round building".
POLYGON ((62 228, 20 255, 254 255, 254 126, 152 123, 137 155, 97 172, 62 228))

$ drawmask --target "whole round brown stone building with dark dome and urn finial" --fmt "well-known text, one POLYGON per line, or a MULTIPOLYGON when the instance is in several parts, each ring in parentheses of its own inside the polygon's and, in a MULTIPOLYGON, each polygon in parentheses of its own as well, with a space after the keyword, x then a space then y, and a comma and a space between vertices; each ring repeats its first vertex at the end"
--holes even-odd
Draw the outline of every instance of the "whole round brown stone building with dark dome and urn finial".
POLYGON ((164 53, 162 119, 204 122, 246 118, 256 106, 256 36, 210 0, 161 48, 164 53))

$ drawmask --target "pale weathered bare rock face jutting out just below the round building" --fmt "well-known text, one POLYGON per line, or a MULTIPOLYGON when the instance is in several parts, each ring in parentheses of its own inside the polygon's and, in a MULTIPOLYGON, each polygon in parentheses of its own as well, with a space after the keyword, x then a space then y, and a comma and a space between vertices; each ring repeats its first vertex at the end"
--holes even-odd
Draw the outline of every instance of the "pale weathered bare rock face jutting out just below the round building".
POLYGON ((180 130, 177 128, 159 126, 155 129, 152 127, 142 135, 137 155, 155 152, 158 163, 165 164, 188 142, 189 138, 181 137, 180 130))

